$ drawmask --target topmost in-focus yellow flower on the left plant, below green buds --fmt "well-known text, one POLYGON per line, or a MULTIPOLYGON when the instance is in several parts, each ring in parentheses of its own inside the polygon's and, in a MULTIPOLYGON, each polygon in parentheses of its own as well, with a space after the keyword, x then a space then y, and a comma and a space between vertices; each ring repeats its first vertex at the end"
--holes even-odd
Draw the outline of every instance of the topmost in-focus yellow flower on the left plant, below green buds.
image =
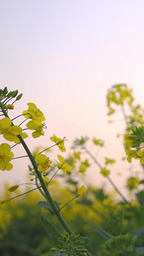
POLYGON ((27 103, 27 105, 29 108, 22 113, 26 119, 33 119, 38 122, 45 120, 43 113, 36 107, 34 103, 27 103))

